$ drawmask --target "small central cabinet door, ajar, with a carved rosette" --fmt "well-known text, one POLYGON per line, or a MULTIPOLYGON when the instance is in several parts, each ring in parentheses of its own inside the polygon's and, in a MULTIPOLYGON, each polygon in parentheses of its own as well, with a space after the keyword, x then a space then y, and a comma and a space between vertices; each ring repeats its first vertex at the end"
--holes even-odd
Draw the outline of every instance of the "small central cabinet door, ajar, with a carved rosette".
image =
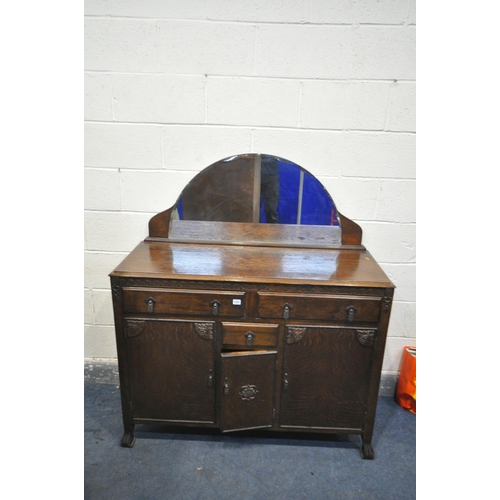
POLYGON ((271 427, 276 351, 222 353, 222 431, 271 427))

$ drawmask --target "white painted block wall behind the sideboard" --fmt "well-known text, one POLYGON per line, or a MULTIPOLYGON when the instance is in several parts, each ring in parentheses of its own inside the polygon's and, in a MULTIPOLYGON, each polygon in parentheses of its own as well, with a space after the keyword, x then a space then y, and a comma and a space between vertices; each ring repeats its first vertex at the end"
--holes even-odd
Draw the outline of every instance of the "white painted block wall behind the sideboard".
POLYGON ((415 329, 416 0, 85 1, 85 358, 115 360, 108 274, 185 184, 236 153, 316 175, 415 329))

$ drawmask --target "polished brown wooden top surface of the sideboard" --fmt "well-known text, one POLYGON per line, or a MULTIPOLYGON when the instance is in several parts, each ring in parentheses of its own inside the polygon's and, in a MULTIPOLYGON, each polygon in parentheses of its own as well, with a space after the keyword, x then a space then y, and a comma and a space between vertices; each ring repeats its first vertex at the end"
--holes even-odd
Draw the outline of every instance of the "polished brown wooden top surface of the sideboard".
POLYGON ((143 241, 114 277, 394 287, 364 249, 143 241))

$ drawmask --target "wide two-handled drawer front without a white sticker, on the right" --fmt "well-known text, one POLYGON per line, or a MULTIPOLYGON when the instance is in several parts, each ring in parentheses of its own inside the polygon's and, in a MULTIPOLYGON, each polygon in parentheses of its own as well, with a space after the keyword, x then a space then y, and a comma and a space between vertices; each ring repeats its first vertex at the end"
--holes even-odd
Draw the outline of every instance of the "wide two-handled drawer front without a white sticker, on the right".
POLYGON ((261 318, 315 319, 376 323, 381 298, 317 294, 258 294, 261 318))

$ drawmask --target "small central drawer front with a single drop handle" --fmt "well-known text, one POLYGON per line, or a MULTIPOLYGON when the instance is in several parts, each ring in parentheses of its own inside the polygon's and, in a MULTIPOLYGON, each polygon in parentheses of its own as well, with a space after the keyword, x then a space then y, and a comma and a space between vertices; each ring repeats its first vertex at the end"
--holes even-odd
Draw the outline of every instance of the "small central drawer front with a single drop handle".
POLYGON ((263 323, 222 323, 222 343, 224 346, 276 346, 278 328, 278 325, 263 323))

